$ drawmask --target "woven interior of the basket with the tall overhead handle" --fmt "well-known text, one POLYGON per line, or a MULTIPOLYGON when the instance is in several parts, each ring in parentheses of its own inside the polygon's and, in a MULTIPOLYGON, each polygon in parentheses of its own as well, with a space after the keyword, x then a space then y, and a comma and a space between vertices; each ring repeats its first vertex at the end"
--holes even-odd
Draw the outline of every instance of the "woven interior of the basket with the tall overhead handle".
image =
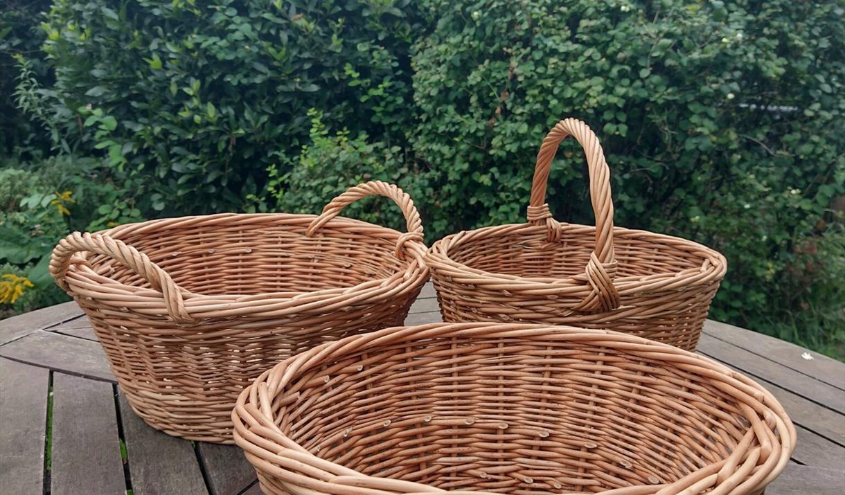
MULTIPOLYGON (((509 233, 498 227, 450 245, 449 258, 473 269, 526 278, 583 275, 596 245, 595 227, 564 226, 561 242, 547 242, 543 226, 524 226, 509 233)), ((613 233, 617 277, 674 274, 713 260, 710 250, 677 237, 616 228, 613 233)))

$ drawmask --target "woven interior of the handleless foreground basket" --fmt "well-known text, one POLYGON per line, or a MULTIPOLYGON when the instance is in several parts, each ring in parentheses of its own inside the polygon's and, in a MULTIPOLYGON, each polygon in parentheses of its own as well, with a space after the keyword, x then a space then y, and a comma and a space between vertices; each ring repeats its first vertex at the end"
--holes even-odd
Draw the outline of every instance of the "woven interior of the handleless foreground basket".
POLYGON ((713 382, 572 341, 432 339, 300 370, 276 422, 312 454, 370 476, 600 492, 728 457, 749 423, 713 382))

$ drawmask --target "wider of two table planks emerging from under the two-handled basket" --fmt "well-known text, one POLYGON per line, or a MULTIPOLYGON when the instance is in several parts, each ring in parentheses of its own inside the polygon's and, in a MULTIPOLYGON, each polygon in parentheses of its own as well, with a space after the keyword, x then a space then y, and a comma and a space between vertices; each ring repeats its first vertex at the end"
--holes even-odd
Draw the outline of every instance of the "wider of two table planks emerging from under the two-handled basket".
POLYGON ((207 494, 191 443, 153 429, 123 394, 119 400, 134 495, 207 494))

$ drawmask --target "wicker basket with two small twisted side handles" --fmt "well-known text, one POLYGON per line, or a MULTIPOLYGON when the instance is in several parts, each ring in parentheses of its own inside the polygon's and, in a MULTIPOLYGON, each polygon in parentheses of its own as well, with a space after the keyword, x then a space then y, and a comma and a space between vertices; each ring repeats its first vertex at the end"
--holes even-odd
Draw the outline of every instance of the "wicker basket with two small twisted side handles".
POLYGON ((428 280, 412 200, 384 182, 322 215, 208 215, 74 233, 53 251, 59 286, 85 310, 135 412, 177 437, 232 443, 237 394, 328 340, 402 324, 428 280), (336 217, 393 199, 407 233, 336 217))

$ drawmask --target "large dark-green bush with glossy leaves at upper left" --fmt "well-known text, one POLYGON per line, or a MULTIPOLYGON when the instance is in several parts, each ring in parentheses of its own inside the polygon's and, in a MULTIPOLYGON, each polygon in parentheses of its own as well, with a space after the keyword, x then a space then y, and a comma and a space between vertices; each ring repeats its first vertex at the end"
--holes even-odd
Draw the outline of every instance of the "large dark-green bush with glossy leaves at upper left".
POLYGON ((44 28, 64 138, 150 177, 165 213, 242 208, 332 126, 390 135, 410 92, 409 0, 56 0, 44 28))

